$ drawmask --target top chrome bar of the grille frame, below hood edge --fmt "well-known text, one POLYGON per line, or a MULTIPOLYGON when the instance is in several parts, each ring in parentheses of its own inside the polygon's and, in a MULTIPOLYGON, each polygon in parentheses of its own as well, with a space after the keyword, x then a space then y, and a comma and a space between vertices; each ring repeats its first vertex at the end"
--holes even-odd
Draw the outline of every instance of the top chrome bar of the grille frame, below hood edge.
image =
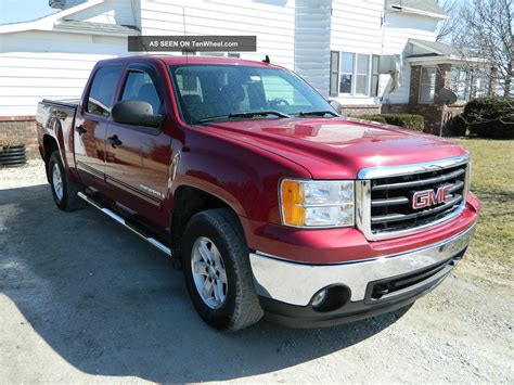
POLYGON ((446 159, 429 161, 423 163, 411 163, 400 166, 376 166, 363 168, 357 175, 358 179, 376 179, 387 177, 400 177, 402 175, 428 172, 450 167, 457 167, 470 162, 470 155, 464 154, 446 159))

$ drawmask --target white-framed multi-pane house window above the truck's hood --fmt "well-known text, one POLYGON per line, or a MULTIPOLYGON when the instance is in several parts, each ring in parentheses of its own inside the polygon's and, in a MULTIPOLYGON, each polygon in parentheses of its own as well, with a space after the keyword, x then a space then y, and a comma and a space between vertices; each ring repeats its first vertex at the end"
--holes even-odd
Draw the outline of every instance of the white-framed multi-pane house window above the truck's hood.
POLYGON ((331 51, 330 94, 376 97, 378 55, 331 51))

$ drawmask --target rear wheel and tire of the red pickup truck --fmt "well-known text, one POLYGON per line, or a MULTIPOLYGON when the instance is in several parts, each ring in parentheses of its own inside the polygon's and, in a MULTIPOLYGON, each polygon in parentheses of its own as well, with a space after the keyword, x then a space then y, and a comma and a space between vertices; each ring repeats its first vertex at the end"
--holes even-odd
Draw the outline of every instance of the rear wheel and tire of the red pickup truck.
POLYGON ((66 176, 59 151, 54 151, 48 162, 48 175, 53 201, 64 211, 74 211, 83 207, 83 201, 77 195, 79 184, 66 176), (59 171, 59 175, 57 175, 59 171), (61 181, 61 183, 59 183, 61 181))

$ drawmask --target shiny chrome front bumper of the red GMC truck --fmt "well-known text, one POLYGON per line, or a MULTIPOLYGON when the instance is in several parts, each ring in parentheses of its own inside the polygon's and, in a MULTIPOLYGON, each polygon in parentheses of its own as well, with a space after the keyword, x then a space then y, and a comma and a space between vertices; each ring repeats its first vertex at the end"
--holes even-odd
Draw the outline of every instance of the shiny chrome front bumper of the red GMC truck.
POLYGON ((249 260, 259 296, 281 303, 307 306, 321 288, 346 285, 351 301, 362 301, 368 284, 407 274, 448 260, 464 251, 474 226, 439 243, 402 254, 334 265, 305 265, 265 253, 250 253, 249 260))

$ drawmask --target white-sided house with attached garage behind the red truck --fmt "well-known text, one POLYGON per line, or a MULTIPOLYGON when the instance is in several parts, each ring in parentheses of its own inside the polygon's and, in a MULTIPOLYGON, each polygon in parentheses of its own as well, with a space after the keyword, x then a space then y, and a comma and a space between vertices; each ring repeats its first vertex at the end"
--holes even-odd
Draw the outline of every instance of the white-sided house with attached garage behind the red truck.
MULTIPOLYGON (((34 120, 42 98, 80 97, 97 61, 132 54, 131 35, 255 35, 257 52, 210 54, 249 60, 267 54, 351 114, 437 113, 438 86, 452 87, 451 65, 454 72, 459 62, 450 47, 434 43, 437 23, 446 18, 435 0, 49 3, 61 11, 0 26, 0 134, 2 121, 34 120)), ((440 112, 427 119, 440 121, 440 112)))

